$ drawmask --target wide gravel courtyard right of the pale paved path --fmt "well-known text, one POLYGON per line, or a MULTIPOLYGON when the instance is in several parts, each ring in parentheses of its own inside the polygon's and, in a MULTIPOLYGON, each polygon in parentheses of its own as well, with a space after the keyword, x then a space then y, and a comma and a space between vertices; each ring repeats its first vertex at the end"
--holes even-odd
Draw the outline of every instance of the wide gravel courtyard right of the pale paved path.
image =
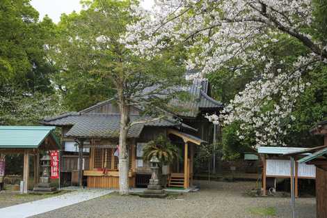
MULTIPOLYGON (((207 182, 198 181, 200 191, 170 196, 166 199, 140 198, 109 194, 84 201, 66 208, 46 212, 36 217, 291 217, 289 198, 250 197, 246 190, 255 187, 255 182, 207 182), (255 215, 257 208, 276 208, 276 215, 255 215)), ((296 199, 297 217, 315 217, 315 198, 296 199)))

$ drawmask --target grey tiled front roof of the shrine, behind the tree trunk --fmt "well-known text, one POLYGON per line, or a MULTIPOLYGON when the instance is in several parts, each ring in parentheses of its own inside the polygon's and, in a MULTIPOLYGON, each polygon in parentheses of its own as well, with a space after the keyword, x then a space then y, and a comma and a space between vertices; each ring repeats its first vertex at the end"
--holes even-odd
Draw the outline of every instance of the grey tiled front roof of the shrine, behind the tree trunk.
MULTIPOLYGON (((150 120, 150 117, 141 117, 130 115, 131 121, 150 120)), ((59 116, 44 120, 46 125, 72 125, 72 128, 66 133, 67 137, 99 137, 99 138, 117 138, 120 129, 120 115, 115 114, 77 114, 72 113, 69 116, 59 116)), ((131 126, 127 137, 138 137, 144 126, 174 127, 180 123, 173 120, 161 119, 149 123, 137 124, 131 126)))

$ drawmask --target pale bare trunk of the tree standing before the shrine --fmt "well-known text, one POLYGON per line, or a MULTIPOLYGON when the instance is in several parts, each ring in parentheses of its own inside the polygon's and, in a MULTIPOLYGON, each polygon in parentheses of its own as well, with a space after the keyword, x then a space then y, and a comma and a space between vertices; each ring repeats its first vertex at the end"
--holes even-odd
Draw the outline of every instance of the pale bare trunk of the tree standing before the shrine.
POLYGON ((127 133, 129 130, 129 112, 122 93, 118 90, 120 106, 120 132, 119 132, 119 193, 128 194, 128 155, 127 155, 127 133))

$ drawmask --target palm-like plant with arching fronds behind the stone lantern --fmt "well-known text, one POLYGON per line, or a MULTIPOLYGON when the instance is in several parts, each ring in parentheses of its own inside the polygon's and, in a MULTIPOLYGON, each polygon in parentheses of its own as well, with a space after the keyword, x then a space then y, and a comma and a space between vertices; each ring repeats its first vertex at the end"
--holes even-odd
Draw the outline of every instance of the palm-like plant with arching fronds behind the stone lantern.
POLYGON ((157 157, 161 165, 167 165, 180 159, 180 150, 170 143, 169 139, 160 135, 157 139, 149 141, 143 148, 143 159, 150 161, 152 157, 157 157))

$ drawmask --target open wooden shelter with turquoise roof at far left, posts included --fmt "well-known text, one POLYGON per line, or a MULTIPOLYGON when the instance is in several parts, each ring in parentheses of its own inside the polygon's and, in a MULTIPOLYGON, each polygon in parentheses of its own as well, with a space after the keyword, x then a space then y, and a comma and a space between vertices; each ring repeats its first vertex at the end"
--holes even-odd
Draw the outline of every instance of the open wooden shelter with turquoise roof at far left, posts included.
POLYGON ((29 157, 34 161, 34 186, 38 185, 40 150, 59 150, 61 145, 52 126, 0 125, 0 157, 6 154, 24 154, 24 187, 27 193, 29 181, 29 157))

